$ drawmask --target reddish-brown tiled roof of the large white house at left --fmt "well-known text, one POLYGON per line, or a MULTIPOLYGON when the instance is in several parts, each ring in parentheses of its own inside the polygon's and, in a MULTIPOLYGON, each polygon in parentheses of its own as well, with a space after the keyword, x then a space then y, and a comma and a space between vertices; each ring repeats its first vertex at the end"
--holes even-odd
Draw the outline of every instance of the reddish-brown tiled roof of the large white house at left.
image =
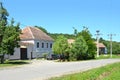
POLYGON ((22 34, 20 35, 20 39, 38 39, 53 41, 50 36, 48 36, 46 33, 36 27, 26 27, 25 29, 23 29, 22 34))

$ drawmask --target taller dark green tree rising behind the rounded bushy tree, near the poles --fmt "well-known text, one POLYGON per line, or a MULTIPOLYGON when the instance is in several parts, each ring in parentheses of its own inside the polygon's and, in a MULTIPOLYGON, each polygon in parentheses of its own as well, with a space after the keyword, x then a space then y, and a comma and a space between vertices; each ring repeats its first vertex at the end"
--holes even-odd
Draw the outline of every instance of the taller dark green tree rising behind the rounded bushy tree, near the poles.
POLYGON ((92 39, 92 35, 90 34, 89 30, 87 27, 84 27, 84 29, 77 34, 77 36, 83 36, 84 40, 86 41, 88 45, 88 58, 95 58, 95 53, 96 53, 96 45, 94 40, 92 39))

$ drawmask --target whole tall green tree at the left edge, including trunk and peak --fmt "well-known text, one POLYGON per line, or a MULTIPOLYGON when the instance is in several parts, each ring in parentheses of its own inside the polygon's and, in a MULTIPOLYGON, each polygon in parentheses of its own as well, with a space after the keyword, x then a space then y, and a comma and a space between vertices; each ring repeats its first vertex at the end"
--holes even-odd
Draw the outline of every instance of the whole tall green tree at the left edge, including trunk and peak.
POLYGON ((0 61, 4 63, 5 54, 13 54, 15 47, 19 47, 19 24, 14 25, 14 20, 7 23, 8 12, 0 3, 0 61))

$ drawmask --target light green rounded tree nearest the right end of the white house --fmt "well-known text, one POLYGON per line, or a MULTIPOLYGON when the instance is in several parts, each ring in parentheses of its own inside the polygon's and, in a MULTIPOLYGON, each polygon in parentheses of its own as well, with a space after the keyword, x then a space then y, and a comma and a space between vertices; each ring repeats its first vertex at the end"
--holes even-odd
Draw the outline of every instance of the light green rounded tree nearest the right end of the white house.
POLYGON ((68 49, 67 38, 65 38, 62 35, 58 36, 52 47, 53 52, 56 54, 60 54, 61 59, 64 59, 63 57, 66 55, 67 49, 68 49))

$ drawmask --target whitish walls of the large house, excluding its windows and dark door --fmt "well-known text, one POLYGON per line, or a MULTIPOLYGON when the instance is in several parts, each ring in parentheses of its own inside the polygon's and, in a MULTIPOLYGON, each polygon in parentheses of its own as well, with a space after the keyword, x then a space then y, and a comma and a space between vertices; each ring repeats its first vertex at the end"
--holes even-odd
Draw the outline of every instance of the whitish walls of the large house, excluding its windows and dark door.
MULTIPOLYGON (((30 43, 27 44, 26 46, 21 46, 20 48, 27 48, 27 58, 31 59, 31 53, 32 53, 32 58, 36 57, 43 57, 44 53, 52 53, 52 48, 50 48, 50 44, 53 41, 45 41, 45 40, 22 40, 21 42, 24 43, 30 43), (37 48, 37 42, 39 42, 39 48, 37 48), (44 43, 44 48, 42 48, 42 43, 44 43), (48 43, 48 48, 46 47, 48 43)), ((20 48, 15 48, 14 55, 7 55, 9 59, 20 59, 21 58, 21 52, 20 48)))

